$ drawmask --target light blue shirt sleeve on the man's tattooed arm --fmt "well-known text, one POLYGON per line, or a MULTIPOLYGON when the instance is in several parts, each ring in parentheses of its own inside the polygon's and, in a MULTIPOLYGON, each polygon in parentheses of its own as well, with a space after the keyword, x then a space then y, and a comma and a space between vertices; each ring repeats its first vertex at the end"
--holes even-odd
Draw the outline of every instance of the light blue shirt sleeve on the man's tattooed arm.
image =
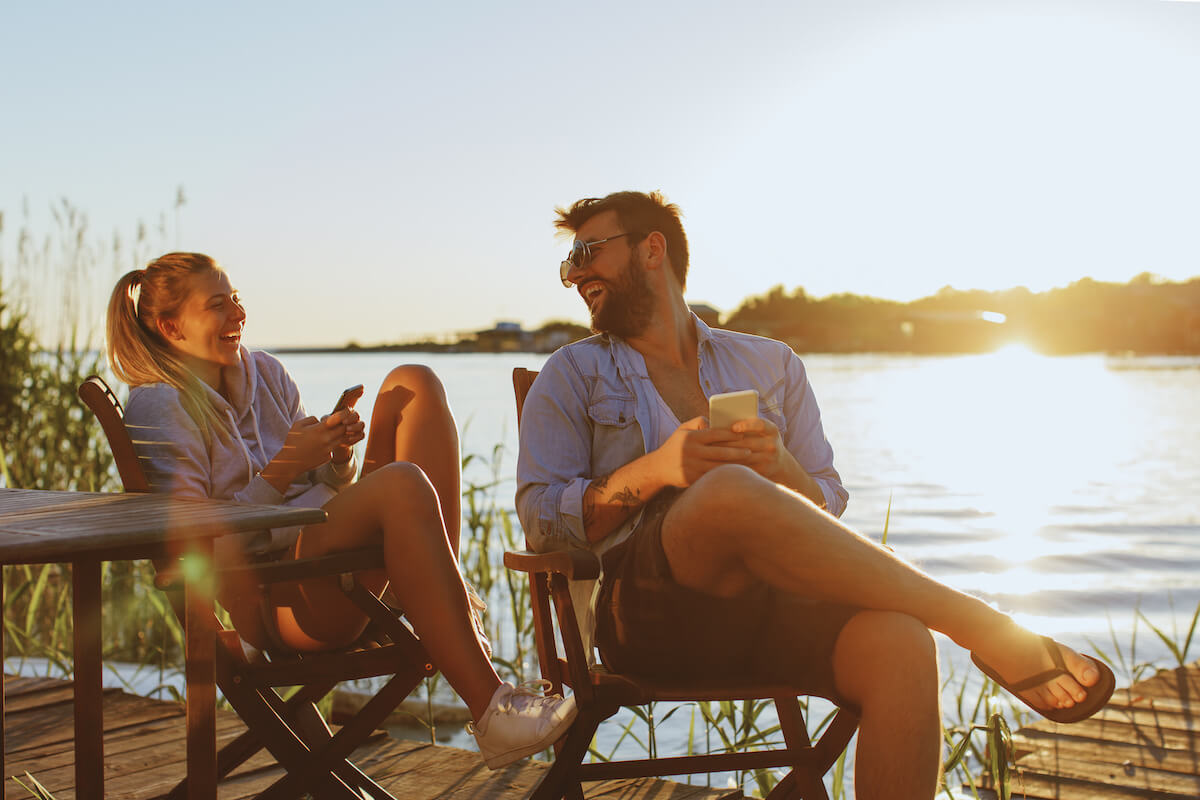
POLYGON ((592 429, 583 390, 560 351, 538 374, 521 413, 516 506, 535 551, 589 543, 583 493, 592 482, 592 429))

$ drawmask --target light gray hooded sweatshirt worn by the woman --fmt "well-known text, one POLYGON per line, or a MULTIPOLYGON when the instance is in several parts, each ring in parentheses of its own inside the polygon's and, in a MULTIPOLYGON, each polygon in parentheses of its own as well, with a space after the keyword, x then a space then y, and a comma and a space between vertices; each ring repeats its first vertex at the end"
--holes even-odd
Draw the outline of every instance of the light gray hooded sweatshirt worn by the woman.
MULTIPOLYGON (((355 464, 326 462, 301 474, 280 493, 262 470, 283 447, 292 425, 308 414, 300 390, 275 356, 241 349, 238 366, 222 369, 227 401, 204 385, 222 425, 209 427, 185 410, 180 392, 167 384, 130 390, 125 427, 155 492, 239 503, 319 509, 354 480, 355 464)), ((247 536, 250 552, 290 547, 299 528, 247 536)))

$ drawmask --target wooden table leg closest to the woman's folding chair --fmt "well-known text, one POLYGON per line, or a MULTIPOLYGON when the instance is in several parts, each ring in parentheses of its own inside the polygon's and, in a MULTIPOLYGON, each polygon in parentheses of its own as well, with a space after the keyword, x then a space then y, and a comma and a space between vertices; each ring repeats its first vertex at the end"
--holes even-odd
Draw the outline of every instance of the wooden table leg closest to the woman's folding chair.
MULTIPOLYGON (((186 579, 187 675, 187 796, 214 800, 217 796, 216 745, 216 625, 212 616, 212 540, 196 542, 190 554, 204 565, 202 575, 186 579)), ((190 570, 184 570, 185 575, 190 570)))

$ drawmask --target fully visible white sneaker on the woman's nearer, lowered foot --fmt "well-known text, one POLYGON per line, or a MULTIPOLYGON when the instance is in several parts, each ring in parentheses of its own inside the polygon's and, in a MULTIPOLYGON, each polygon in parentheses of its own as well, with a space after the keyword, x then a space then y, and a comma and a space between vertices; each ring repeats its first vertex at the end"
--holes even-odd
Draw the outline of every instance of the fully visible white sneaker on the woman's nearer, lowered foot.
POLYGON ((514 686, 505 681, 478 723, 467 723, 479 754, 490 769, 499 769, 546 750, 563 738, 578 709, 575 696, 546 694, 548 680, 514 686))

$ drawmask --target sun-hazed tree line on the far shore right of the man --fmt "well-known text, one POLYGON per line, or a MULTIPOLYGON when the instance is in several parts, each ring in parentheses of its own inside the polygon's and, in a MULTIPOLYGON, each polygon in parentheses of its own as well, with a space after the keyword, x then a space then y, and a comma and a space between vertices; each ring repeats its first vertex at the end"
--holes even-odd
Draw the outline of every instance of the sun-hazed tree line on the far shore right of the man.
POLYGON ((775 287, 746 299, 724 326, 800 353, 984 353, 1020 342, 1046 354, 1200 354, 1200 277, 1082 278, 1042 293, 946 287, 907 303, 775 287))

